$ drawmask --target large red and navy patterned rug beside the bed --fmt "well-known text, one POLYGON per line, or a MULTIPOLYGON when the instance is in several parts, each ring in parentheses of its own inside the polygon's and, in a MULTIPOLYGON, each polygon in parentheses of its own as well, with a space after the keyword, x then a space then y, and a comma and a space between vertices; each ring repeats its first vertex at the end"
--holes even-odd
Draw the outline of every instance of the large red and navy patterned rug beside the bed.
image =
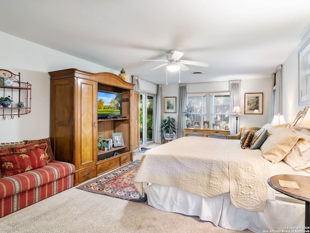
POLYGON ((146 201, 146 194, 142 198, 140 192, 132 182, 138 171, 139 164, 140 160, 133 161, 77 188, 125 200, 136 202, 146 201))

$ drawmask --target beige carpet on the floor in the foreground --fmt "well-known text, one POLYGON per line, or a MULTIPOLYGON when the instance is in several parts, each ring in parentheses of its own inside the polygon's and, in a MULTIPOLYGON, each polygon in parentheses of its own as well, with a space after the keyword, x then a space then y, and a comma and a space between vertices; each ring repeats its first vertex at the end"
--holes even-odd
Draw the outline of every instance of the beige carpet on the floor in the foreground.
MULTIPOLYGON (((135 153, 134 160, 141 153, 135 153)), ((2 233, 240 233, 75 187, 0 218, 2 233)), ((251 233, 245 230, 242 233, 251 233)))

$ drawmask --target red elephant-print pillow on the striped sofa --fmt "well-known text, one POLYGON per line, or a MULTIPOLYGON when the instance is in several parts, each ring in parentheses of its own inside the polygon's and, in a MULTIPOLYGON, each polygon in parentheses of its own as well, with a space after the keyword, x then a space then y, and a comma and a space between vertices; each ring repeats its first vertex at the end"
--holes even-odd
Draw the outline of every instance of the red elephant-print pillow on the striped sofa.
POLYGON ((14 147, 14 152, 0 154, 0 177, 12 176, 45 166, 47 144, 14 147))

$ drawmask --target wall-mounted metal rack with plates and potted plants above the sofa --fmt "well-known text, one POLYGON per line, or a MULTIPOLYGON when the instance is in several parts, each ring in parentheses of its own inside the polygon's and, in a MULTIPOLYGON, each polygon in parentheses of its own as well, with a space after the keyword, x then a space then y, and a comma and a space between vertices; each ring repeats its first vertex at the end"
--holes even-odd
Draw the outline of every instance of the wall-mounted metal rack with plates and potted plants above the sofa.
POLYGON ((31 112, 31 84, 20 82, 20 73, 0 69, 0 116, 20 116, 31 112))

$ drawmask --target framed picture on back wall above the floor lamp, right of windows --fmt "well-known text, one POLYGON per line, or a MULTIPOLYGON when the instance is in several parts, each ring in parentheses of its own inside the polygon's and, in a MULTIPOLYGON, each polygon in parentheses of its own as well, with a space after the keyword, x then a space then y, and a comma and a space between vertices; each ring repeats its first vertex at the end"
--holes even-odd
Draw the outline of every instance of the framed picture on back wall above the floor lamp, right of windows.
POLYGON ((263 93, 244 94, 244 114, 263 114, 263 93))

